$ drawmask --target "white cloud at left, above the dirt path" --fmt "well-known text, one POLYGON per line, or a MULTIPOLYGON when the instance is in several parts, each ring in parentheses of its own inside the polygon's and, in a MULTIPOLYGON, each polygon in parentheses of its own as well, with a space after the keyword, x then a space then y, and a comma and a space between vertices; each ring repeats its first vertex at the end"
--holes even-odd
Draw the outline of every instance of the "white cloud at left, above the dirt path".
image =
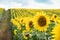
POLYGON ((20 8, 22 6, 21 3, 10 2, 7 4, 0 4, 0 8, 5 8, 6 10, 9 8, 20 8))

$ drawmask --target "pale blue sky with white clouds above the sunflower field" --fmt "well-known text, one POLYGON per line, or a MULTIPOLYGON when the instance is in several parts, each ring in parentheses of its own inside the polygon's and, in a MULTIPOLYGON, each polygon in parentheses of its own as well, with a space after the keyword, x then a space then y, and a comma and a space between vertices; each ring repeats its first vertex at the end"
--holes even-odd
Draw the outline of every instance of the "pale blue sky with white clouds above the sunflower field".
POLYGON ((60 0, 0 0, 0 8, 60 8, 60 0))

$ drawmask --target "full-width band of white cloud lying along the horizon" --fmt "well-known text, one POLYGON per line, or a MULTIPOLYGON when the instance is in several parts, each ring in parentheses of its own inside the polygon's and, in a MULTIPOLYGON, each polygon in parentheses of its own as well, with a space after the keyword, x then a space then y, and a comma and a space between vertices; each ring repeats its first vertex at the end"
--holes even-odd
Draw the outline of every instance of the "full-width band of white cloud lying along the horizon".
POLYGON ((50 0, 51 4, 45 4, 45 3, 38 3, 35 0, 27 0, 27 5, 24 5, 23 3, 17 3, 17 2, 9 2, 6 4, 0 4, 0 7, 3 7, 5 9, 9 8, 35 8, 35 9, 60 9, 60 1, 57 0, 50 0))

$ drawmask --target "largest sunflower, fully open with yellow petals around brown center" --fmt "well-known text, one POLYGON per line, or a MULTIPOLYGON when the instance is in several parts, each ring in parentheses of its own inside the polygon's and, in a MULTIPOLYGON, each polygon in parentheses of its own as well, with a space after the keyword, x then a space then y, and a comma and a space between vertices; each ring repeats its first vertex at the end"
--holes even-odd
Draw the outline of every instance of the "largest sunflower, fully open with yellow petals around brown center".
POLYGON ((37 29, 38 31, 46 31, 49 23, 50 23, 49 17, 43 11, 41 13, 38 12, 34 16, 33 19, 34 28, 37 29))

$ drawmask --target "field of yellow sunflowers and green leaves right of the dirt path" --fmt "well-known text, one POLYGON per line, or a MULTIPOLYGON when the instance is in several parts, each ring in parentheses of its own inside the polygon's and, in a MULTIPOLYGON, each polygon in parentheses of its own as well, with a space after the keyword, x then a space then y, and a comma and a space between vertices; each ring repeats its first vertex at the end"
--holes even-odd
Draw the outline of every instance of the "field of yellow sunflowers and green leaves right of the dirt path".
POLYGON ((10 10, 13 40, 59 40, 60 16, 55 10, 10 10))

